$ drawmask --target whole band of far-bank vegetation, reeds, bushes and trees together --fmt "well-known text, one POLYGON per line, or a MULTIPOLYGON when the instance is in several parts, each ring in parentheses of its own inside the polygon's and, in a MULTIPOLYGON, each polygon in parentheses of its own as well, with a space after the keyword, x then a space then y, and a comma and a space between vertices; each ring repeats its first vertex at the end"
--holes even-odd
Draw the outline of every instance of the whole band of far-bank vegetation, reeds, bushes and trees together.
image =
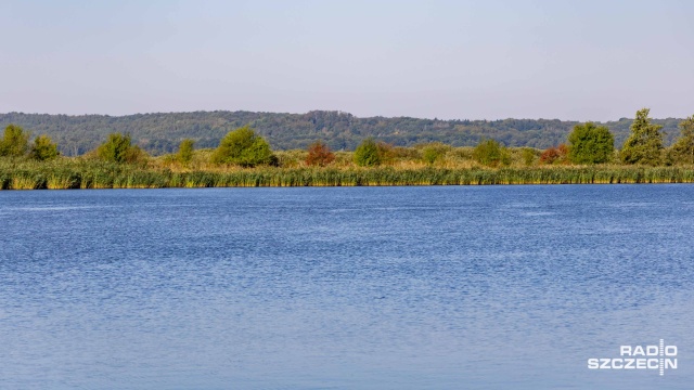
POLYGON ((694 182, 694 116, 664 146, 648 109, 637 113, 620 148, 605 126, 578 123, 565 143, 506 147, 444 143, 393 146, 365 138, 354 152, 317 139, 306 150, 273 151, 245 126, 216 148, 183 139, 177 153, 152 157, 129 134, 112 133, 81 156, 61 156, 47 135, 10 125, 0 139, 0 188, 159 188, 229 186, 486 185, 694 182))

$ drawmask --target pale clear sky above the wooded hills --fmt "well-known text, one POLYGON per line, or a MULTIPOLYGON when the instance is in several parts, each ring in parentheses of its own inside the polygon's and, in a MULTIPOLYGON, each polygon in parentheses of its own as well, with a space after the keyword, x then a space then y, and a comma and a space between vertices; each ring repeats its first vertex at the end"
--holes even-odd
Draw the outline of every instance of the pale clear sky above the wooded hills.
POLYGON ((694 114, 689 0, 0 0, 0 113, 694 114))

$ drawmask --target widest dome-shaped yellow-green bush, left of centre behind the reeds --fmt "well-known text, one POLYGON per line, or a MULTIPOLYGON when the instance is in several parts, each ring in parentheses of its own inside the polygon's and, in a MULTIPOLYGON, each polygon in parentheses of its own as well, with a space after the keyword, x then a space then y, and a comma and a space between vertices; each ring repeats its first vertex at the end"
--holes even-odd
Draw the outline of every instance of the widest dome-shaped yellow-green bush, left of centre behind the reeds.
POLYGON ((230 131, 219 142, 213 154, 215 164, 233 164, 242 167, 277 164, 270 144, 248 126, 230 131))

